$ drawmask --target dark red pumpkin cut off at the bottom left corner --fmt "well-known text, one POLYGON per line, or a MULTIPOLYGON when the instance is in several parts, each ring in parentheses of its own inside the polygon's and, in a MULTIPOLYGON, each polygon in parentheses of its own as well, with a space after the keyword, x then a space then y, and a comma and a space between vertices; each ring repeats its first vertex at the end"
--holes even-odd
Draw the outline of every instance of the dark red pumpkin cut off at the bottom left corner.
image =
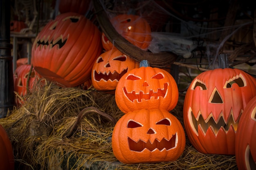
POLYGON ((13 148, 2 125, 0 125, 0 169, 14 170, 13 148))

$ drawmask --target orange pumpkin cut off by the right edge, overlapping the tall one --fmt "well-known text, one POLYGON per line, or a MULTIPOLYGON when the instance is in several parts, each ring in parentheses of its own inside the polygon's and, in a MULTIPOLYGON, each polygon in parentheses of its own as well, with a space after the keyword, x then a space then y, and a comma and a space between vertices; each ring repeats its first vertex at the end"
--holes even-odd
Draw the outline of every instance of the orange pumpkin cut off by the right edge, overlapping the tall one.
POLYGON ((256 97, 246 105, 236 132, 236 164, 239 170, 256 169, 256 97))

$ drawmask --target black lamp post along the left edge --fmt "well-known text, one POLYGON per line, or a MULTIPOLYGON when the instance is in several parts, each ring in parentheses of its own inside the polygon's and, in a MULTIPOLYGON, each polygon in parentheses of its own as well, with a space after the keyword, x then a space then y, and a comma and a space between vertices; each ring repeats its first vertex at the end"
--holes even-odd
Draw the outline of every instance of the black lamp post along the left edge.
POLYGON ((14 85, 10 43, 10 0, 0 0, 0 118, 14 106, 14 85))

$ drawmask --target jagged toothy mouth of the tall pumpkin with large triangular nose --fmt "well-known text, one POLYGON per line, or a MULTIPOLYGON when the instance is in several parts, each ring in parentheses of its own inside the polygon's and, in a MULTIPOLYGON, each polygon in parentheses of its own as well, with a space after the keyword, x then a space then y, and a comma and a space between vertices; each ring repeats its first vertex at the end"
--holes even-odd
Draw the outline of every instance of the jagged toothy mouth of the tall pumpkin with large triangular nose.
MULTIPOLYGON (((238 121, 240 119, 240 116, 239 116, 237 121, 234 121, 233 110, 231 110, 231 112, 229 113, 230 116, 227 121, 225 121, 223 119, 223 113, 220 113, 218 120, 215 120, 213 118, 212 113, 207 117, 207 119, 204 120, 204 118, 201 115, 201 112, 198 113, 197 117, 195 117, 193 115, 191 108, 190 108, 189 112, 190 112, 189 113, 190 125, 191 125, 193 131, 197 135, 198 135, 198 126, 204 132, 204 135, 206 134, 206 132, 209 128, 211 128, 211 130, 214 132, 215 136, 218 134, 218 131, 220 130, 220 128, 225 130, 225 132, 227 133, 229 131, 230 127, 233 127, 234 131, 236 132, 237 126, 238 126, 238 121)), ((243 112, 243 110, 240 111, 239 115, 241 115, 242 112, 243 112)))

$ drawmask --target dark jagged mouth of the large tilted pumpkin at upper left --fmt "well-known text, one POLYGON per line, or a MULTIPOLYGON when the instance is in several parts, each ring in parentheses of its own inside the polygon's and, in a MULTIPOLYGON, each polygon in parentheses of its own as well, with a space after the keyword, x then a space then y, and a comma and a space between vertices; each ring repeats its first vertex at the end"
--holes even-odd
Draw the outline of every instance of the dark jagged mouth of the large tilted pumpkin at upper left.
POLYGON ((63 40, 62 36, 60 36, 50 42, 48 39, 49 38, 38 40, 36 43, 36 48, 40 47, 40 50, 41 50, 43 48, 43 46, 45 46, 45 48, 47 48, 49 46, 49 49, 52 49, 56 45, 57 49, 61 49, 61 47, 63 47, 65 45, 65 43, 67 42, 67 38, 65 40, 63 40))

